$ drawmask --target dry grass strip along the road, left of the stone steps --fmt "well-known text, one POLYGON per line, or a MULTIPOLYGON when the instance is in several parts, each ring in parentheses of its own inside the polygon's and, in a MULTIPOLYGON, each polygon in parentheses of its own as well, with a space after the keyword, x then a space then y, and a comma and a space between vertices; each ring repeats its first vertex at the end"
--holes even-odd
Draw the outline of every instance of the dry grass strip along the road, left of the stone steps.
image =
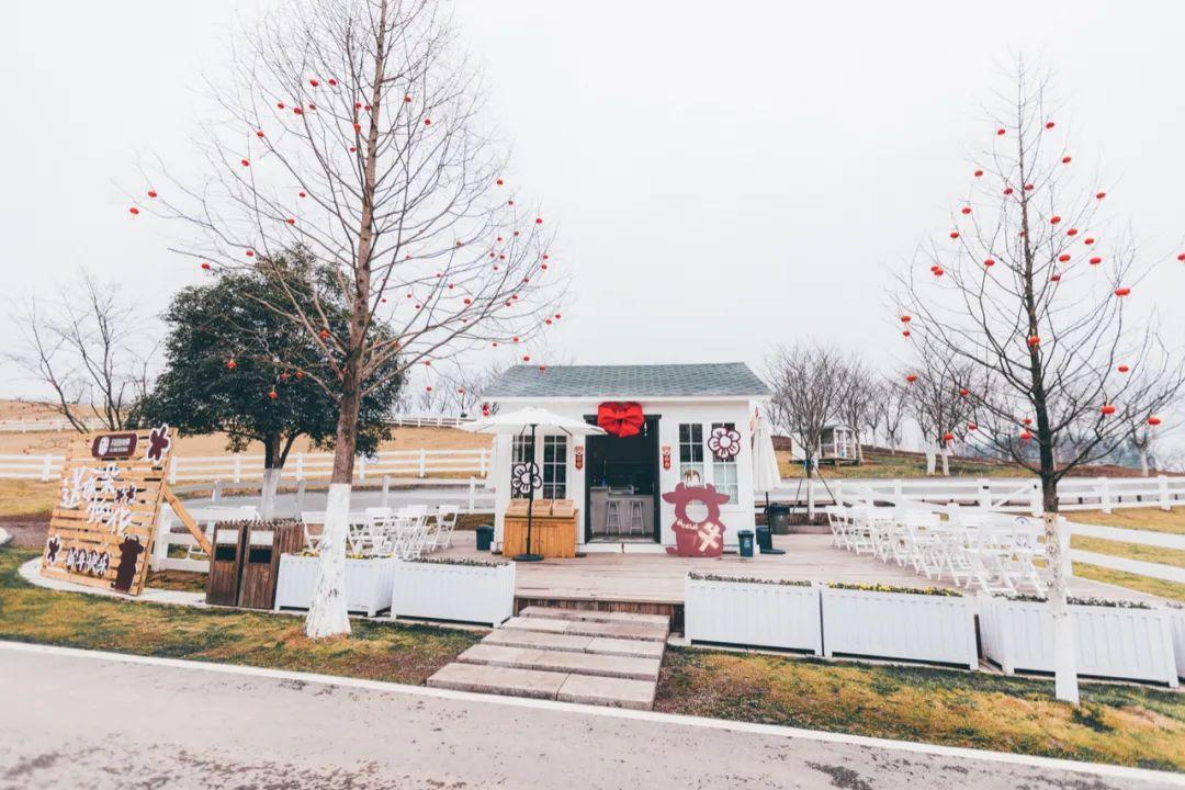
POLYGON ((421 685, 482 636, 354 621, 351 638, 314 642, 305 637, 305 621, 290 615, 165 606, 34 587, 17 569, 36 555, 0 550, 0 640, 421 685))

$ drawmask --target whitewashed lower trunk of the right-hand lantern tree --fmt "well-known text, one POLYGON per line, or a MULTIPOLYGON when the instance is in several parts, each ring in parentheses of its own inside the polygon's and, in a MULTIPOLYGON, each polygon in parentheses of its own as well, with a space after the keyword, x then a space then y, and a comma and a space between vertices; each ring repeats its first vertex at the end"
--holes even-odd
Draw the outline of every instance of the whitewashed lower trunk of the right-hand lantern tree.
POLYGON ((1057 483, 1042 477, 1042 505, 1045 510, 1045 555, 1049 561, 1049 608, 1053 619, 1053 691, 1057 699, 1078 704, 1077 634, 1070 612, 1068 579, 1070 538, 1065 519, 1057 512, 1057 483))

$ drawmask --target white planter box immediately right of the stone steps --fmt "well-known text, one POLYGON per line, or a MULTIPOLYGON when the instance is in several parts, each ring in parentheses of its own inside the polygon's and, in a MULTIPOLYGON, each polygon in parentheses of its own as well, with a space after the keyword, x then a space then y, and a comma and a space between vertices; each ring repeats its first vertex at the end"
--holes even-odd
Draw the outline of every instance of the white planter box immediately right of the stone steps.
POLYGON ((822 653, 819 589, 751 582, 684 580, 684 635, 724 642, 822 653))

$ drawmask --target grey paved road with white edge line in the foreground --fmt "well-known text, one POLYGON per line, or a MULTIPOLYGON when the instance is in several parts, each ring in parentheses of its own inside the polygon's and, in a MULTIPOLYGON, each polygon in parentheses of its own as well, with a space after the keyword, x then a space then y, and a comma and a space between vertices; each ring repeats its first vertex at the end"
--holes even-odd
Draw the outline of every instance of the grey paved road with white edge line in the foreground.
POLYGON ((0 701, 4 789, 1181 786, 774 728, 5 643, 0 701))

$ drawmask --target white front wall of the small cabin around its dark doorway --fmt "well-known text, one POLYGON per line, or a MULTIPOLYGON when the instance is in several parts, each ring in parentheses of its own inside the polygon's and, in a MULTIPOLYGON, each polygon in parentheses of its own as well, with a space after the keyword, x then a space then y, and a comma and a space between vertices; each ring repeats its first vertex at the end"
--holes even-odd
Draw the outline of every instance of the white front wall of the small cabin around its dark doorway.
MULTIPOLYGON (((521 399, 499 400, 501 411, 508 412, 523 406, 538 406, 547 411, 583 419, 585 415, 595 415, 597 406, 603 403, 603 398, 597 399, 521 399)), ((755 404, 748 399, 736 400, 640 400, 642 412, 651 417, 659 417, 659 449, 664 445, 671 447, 671 468, 659 465, 659 496, 673 492, 679 483, 679 425, 681 423, 700 423, 704 426, 704 483, 712 483, 712 457, 707 449, 707 438, 711 435, 712 423, 734 423, 741 433, 741 452, 737 455, 737 502, 723 505, 720 507, 720 520, 726 528, 725 546, 736 547, 737 531, 754 528, 754 492, 752 492, 752 449, 749 420, 754 413, 755 404)), ((543 441, 544 433, 538 433, 536 438, 536 463, 543 468, 543 441)), ((491 468, 491 480, 495 492, 494 496, 494 540, 501 544, 502 540, 502 516, 506 513, 507 502, 511 499, 510 474, 511 452, 510 444, 512 437, 499 436, 498 443, 505 443, 505 449, 497 448, 494 463, 491 468)), ((584 470, 576 470, 574 448, 583 444, 584 437, 569 437, 568 448, 568 499, 576 502, 581 510, 579 524, 577 525, 577 544, 584 542, 584 470)), ((587 458, 585 458, 587 461, 587 458)), ((538 495, 538 494, 537 494, 538 495)), ((671 525, 674 524, 674 506, 659 500, 659 524, 661 527, 661 541, 664 546, 674 545, 674 533, 671 525)))

